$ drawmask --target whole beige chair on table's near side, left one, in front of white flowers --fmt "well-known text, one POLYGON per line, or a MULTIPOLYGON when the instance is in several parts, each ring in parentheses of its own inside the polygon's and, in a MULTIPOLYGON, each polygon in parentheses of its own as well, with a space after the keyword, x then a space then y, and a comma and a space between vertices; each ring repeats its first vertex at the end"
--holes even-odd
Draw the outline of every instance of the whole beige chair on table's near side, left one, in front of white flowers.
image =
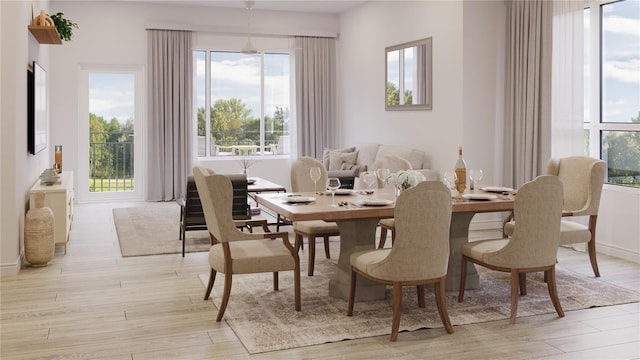
POLYGON ((451 191, 439 181, 422 182, 398 197, 395 219, 397 235, 392 248, 351 255, 351 292, 347 315, 353 315, 357 274, 393 286, 391 341, 396 341, 402 309, 402 287, 416 286, 418 305, 425 307, 424 285, 434 284, 438 314, 447 332, 453 333, 445 299, 451 191))

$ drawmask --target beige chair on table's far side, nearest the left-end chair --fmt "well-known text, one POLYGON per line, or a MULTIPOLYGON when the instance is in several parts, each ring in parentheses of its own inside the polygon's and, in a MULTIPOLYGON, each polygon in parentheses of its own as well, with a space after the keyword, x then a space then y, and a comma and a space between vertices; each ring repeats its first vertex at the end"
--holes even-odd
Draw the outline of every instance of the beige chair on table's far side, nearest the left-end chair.
MULTIPOLYGON (((293 162, 291 165, 291 191, 293 192, 313 192, 324 190, 327 183, 327 169, 322 162, 312 157, 303 156, 293 162), (320 180, 314 185, 311 180, 310 170, 312 167, 320 168, 320 180), (317 186, 318 189, 314 189, 317 186)), ((324 253, 327 259, 331 258, 329 251, 329 237, 338 236, 338 225, 334 222, 326 222, 322 220, 295 221, 293 222, 293 232, 296 236, 296 247, 303 247, 302 240, 306 236, 309 242, 309 266, 307 275, 313 276, 316 257, 316 237, 324 238, 324 253)))

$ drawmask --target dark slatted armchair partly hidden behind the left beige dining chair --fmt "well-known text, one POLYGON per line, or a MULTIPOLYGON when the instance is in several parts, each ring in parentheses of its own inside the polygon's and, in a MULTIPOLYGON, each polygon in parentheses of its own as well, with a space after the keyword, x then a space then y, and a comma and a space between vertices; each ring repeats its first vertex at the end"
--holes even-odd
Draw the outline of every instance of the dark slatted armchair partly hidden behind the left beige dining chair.
MULTIPOLYGON (((259 226, 269 231, 267 220, 251 220, 251 207, 247 202, 247 176, 244 174, 225 175, 231 180, 233 186, 233 202, 231 215, 236 226, 253 232, 253 227, 259 226)), ((186 248, 186 232, 191 230, 207 230, 207 223, 200 202, 200 195, 196 187, 195 178, 187 179, 187 191, 185 197, 177 200, 180 205, 180 234, 182 240, 182 257, 186 248)))

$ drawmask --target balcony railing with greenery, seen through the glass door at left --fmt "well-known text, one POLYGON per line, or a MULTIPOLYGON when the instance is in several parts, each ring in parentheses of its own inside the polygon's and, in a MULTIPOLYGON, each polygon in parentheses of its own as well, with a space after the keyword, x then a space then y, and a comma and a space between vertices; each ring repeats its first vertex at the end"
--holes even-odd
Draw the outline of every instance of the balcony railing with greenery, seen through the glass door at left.
POLYGON ((132 191, 133 132, 91 132, 90 139, 89 192, 132 191))

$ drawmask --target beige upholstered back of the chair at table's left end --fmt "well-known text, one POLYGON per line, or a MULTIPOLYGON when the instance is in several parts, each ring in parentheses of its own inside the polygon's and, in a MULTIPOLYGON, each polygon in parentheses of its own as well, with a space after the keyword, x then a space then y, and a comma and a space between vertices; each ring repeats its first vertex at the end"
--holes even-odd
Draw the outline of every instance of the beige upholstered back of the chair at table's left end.
POLYGON ((233 241, 242 234, 237 230, 231 213, 233 186, 227 176, 211 173, 204 167, 193 168, 207 230, 220 242, 233 241))

